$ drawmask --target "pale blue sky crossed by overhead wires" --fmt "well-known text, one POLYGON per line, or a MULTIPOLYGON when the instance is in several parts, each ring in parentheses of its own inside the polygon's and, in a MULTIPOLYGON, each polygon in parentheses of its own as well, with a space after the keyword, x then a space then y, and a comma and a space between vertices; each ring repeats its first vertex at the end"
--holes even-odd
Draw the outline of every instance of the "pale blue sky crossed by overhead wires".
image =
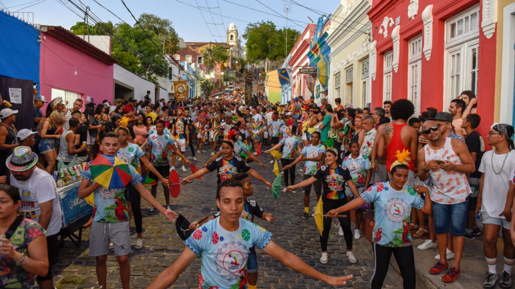
MULTIPOLYGON (((96 1, 128 24, 135 24, 122 0, 96 1)), ((70 29, 76 22, 83 22, 84 17, 84 12, 75 7, 72 2, 82 10, 89 6, 90 11, 102 22, 122 22, 94 0, 0 0, 0 8, 10 12, 33 12, 34 23, 70 29), (80 14, 80 17, 71 10, 80 14)), ((332 13, 340 1, 124 0, 124 2, 136 19, 141 13, 151 13, 172 21, 179 37, 186 42, 226 42, 226 31, 231 22, 236 25, 240 36, 245 32, 249 22, 272 21, 278 28, 282 28, 286 26, 286 7, 288 7, 288 27, 302 32, 308 23, 312 23, 308 17, 316 23, 322 14, 332 13), (308 10, 298 4, 316 11, 308 10)), ((29 19, 32 21, 32 16, 29 19)), ((243 38, 242 43, 245 43, 243 38)))

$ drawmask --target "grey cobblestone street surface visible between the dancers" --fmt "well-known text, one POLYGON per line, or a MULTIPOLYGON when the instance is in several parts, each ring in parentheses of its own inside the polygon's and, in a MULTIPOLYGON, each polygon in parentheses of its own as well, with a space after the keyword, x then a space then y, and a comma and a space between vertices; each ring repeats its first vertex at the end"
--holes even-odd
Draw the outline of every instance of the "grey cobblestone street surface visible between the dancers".
MULTIPOLYGON (((265 150, 265 149, 263 149, 265 150)), ((189 154, 189 150, 188 150, 189 154)), ((191 156, 190 156, 191 157, 191 156)), ((210 157, 209 153, 197 154, 196 165, 200 168, 210 157)), ((252 163, 251 167, 260 172, 270 182, 273 180, 272 166, 268 164, 270 158, 263 155, 264 162, 268 168, 261 169, 252 163)), ((299 169, 300 166, 297 166, 299 169)), ((179 176, 185 177, 191 172, 180 171, 179 176)), ((301 173, 297 171, 296 182, 302 179, 301 173)), ((373 255, 371 244, 365 239, 354 240, 353 251, 358 259, 357 264, 352 265, 346 255, 345 241, 338 236, 336 221, 333 222, 329 240, 328 252, 330 254, 329 264, 321 264, 320 244, 318 231, 313 219, 303 220, 302 213, 303 192, 282 193, 278 201, 274 201, 271 190, 266 191, 264 184, 254 184, 254 195, 251 197, 260 203, 266 211, 275 216, 275 222, 268 224, 266 221, 256 219, 264 228, 272 233, 272 240, 286 250, 297 254, 307 264, 329 275, 353 274, 354 278, 348 282, 346 287, 368 288, 370 277, 373 273, 373 255)), ((150 187, 147 187, 150 189, 150 187)), ((188 220, 193 221, 202 216, 214 213, 216 174, 204 175, 204 180, 196 179, 193 183, 181 186, 181 194, 177 199, 171 199, 171 209, 182 213, 188 220)), ((158 189, 158 200, 164 204, 162 187, 158 189)), ((311 206, 315 205, 315 196, 312 193, 311 206)), ((148 215, 149 204, 142 201, 144 247, 135 250, 133 247, 130 255, 131 264, 131 288, 145 288, 150 281, 162 272, 167 266, 179 256, 184 244, 178 237, 175 224, 165 219, 162 214, 148 215)), ((354 224, 352 225, 354 228, 354 224)), ((54 284, 57 288, 91 288, 97 286, 95 275, 95 259, 88 256, 90 228, 83 230, 82 244, 75 247, 69 240, 64 243, 60 251, 60 260, 54 267, 54 284)), ((132 236, 132 245, 135 243, 135 234, 132 236)), ((260 288, 332 288, 324 283, 310 277, 305 277, 285 267, 280 262, 272 259, 262 251, 258 250, 259 281, 260 288)), ((200 261, 197 258, 175 282, 172 288, 196 288, 198 286, 198 270, 200 261)), ((402 284, 396 271, 390 268, 385 281, 385 287, 391 288, 402 284)), ((121 288, 118 275, 118 265, 113 251, 110 251, 108 259, 108 287, 121 288)))

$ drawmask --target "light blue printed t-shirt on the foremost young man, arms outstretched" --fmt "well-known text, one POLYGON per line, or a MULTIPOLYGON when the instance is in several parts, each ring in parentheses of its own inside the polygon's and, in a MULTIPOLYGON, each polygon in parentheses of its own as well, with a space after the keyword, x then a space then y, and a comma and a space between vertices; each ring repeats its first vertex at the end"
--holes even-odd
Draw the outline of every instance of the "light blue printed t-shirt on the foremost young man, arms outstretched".
POLYGON ((247 220, 239 219, 234 232, 220 226, 220 218, 205 223, 184 241, 200 256, 199 288, 247 288, 247 261, 250 248, 263 249, 272 234, 247 220))

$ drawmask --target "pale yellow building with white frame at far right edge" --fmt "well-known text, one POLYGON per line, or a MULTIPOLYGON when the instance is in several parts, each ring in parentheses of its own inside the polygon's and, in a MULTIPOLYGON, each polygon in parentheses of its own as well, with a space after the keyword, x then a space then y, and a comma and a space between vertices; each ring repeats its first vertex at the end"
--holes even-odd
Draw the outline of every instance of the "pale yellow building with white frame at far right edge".
MULTIPOLYGON (((489 3, 492 6, 489 7, 489 11, 495 13, 493 20, 497 19, 497 29, 494 34, 494 37, 497 37, 494 121, 513 125, 515 123, 515 117, 513 117, 515 112, 513 96, 515 93, 513 81, 515 77, 515 1, 497 0, 489 3)), ((477 104, 488 105, 482 103, 481 99, 477 100, 477 104)))

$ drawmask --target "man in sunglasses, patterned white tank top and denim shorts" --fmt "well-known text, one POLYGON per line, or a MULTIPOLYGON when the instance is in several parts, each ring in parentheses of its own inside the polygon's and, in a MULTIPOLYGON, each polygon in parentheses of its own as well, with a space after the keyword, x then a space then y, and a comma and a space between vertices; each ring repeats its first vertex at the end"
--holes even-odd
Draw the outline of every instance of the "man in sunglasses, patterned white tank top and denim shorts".
POLYGON ((422 133, 429 142, 418 153, 418 176, 422 181, 431 176, 433 182, 430 194, 440 260, 430 269, 430 274, 447 270, 442 281, 450 283, 460 275, 468 196, 472 192, 467 174, 474 172, 475 166, 465 142, 445 137, 440 128, 436 120, 422 124, 422 133), (447 263, 448 233, 454 245, 452 266, 447 263))

